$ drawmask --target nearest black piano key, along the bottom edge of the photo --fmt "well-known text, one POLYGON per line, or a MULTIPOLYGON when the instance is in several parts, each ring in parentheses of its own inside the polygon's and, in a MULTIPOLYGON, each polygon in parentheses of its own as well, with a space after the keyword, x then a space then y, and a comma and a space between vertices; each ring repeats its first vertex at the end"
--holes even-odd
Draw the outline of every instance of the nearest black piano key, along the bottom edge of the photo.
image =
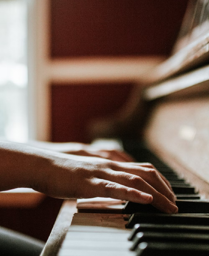
POLYGON ((142 242, 136 256, 209 256, 209 245, 196 243, 142 242))

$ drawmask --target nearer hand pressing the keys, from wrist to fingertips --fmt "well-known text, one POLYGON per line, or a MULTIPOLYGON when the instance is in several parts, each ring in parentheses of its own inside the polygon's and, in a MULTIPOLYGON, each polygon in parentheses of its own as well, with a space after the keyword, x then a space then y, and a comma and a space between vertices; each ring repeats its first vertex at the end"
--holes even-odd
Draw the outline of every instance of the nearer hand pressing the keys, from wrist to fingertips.
POLYGON ((32 188, 55 198, 107 197, 151 203, 176 213, 170 184, 148 163, 122 163, 98 157, 61 154, 39 172, 32 188))

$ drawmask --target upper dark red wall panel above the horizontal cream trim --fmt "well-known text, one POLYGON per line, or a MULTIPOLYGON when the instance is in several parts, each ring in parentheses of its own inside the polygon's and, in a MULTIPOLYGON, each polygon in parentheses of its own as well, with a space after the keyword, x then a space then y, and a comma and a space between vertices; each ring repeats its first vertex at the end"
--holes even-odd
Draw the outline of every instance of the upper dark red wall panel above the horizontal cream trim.
POLYGON ((187 0, 51 0, 51 57, 167 55, 187 0))

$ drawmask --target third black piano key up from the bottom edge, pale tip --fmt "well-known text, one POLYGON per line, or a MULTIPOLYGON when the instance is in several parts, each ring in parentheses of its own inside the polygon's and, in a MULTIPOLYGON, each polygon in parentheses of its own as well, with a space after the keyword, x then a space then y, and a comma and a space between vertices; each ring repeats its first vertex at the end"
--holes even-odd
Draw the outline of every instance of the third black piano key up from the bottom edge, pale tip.
POLYGON ((153 223, 141 223, 135 224, 132 228, 131 234, 128 237, 129 241, 132 241, 138 232, 189 232, 199 234, 209 234, 209 226, 201 225, 179 225, 179 224, 153 224, 153 223))

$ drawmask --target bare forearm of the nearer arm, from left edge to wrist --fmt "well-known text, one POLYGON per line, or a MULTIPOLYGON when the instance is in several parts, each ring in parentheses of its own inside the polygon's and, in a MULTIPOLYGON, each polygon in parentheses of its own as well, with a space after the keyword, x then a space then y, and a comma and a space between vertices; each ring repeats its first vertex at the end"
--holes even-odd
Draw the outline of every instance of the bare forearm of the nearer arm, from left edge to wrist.
POLYGON ((18 143, 0 142, 0 191, 32 188, 52 165, 52 155, 42 149, 18 143))

